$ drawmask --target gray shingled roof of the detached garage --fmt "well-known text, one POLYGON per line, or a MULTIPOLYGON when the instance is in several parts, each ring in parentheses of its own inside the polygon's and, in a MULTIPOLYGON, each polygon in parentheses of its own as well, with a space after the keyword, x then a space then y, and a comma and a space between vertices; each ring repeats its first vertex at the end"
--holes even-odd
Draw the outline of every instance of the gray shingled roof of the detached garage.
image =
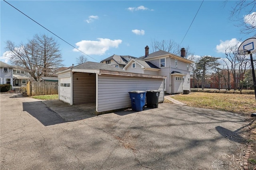
POLYGON ((72 67, 72 69, 91 69, 91 70, 109 70, 109 71, 119 71, 119 72, 127 72, 126 70, 122 70, 121 68, 113 67, 109 64, 105 63, 95 63, 92 61, 87 61, 86 63, 79 64, 77 66, 72 67))

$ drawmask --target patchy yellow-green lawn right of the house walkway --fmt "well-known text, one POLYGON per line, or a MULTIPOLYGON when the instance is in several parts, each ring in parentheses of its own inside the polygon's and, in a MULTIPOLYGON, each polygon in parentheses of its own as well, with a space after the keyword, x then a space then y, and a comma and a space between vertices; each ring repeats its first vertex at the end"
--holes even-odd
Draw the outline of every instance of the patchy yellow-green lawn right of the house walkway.
MULTIPOLYGON (((191 107, 200 107, 234 113, 251 114, 256 113, 256 100, 254 94, 222 94, 191 92, 171 96, 172 98, 191 107)), ((172 103, 165 101, 166 103, 172 103)))

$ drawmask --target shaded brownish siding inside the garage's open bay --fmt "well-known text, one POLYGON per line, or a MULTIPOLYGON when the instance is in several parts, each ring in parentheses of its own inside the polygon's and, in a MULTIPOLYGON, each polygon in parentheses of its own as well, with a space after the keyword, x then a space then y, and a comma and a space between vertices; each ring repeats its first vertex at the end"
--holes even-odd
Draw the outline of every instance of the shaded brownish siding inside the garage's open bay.
POLYGON ((74 72, 73 104, 96 102, 96 74, 74 72))

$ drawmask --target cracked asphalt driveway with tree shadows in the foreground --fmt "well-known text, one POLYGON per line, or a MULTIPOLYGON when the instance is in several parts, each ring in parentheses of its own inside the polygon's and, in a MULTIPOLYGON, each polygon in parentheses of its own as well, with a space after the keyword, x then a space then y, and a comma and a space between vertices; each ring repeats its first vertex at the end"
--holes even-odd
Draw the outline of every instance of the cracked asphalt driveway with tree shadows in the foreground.
POLYGON ((40 100, 0 94, 0 168, 229 169, 216 162, 237 149, 245 118, 159 104, 67 122, 40 100))

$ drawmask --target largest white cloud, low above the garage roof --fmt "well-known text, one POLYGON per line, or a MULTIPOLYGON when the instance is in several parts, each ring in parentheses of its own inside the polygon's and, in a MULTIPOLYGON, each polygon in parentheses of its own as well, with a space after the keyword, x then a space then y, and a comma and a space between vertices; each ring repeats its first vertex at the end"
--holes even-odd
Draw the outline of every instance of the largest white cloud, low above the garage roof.
MULTIPOLYGON (((103 39, 98 38, 98 41, 90 41, 90 40, 82 40, 76 43, 78 49, 87 55, 103 55, 110 47, 117 48, 119 44, 122 43, 121 39, 103 39)), ((78 51, 77 49, 73 49, 73 51, 78 51)))

